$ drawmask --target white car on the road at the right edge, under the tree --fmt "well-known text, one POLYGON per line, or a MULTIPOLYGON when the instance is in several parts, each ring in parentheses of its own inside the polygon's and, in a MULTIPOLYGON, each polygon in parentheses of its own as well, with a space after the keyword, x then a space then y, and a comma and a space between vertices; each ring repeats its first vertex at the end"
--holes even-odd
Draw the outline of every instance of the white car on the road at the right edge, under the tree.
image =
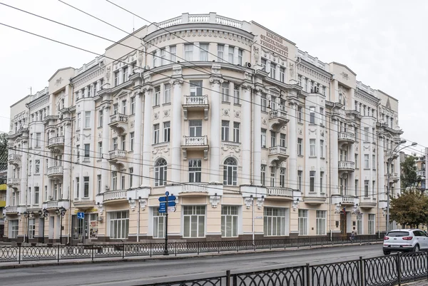
POLYGON ((384 236, 384 255, 391 252, 428 250, 428 236, 423 230, 390 230, 384 236))

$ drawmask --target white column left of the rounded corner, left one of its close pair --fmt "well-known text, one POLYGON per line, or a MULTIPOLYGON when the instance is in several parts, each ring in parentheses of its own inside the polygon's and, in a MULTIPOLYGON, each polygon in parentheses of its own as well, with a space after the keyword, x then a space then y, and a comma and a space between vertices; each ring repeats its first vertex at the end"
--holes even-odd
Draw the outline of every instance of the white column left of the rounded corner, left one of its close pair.
POLYGON ((135 116, 135 131, 134 131, 134 145, 133 145, 133 180, 131 188, 138 188, 140 186, 141 175, 141 122, 143 108, 143 96, 141 92, 136 95, 136 116, 135 116))

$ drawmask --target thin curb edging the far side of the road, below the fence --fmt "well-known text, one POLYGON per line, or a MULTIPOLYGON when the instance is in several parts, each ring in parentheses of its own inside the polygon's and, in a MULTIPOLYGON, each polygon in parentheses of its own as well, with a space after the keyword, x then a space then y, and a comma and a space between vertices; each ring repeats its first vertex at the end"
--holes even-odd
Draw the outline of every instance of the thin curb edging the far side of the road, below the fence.
MULTIPOLYGON (((325 247, 344 247, 344 246, 357 246, 357 245, 376 245, 381 244, 383 241, 379 242, 360 242, 360 243, 344 243, 341 245, 314 245, 314 246, 303 246, 303 247, 290 247, 285 249, 275 248, 272 250, 242 250, 240 252, 229 251, 229 252, 220 252, 213 253, 207 252, 200 255, 189 255, 189 256, 153 256, 153 257, 128 257, 128 258, 115 258, 115 257, 106 257, 109 260, 60 260, 60 262, 40 262, 40 263, 26 263, 26 264, 16 264, 16 265, 0 265, 0 270, 4 269, 19 269, 19 268, 30 268, 30 267, 44 267, 44 266, 59 266, 59 265, 81 265, 81 264, 94 264, 94 263, 114 263, 114 262, 146 262, 146 261, 156 261, 156 260, 187 260, 190 258, 199 258, 199 257, 218 257, 218 256, 230 256, 236 254, 248 254, 248 253, 269 253, 269 252, 285 252, 285 251, 298 251, 298 250, 311 250, 319 249, 325 247)), ((1 263, 1 262, 0 262, 1 263)), ((24 262, 25 263, 25 262, 24 262)))

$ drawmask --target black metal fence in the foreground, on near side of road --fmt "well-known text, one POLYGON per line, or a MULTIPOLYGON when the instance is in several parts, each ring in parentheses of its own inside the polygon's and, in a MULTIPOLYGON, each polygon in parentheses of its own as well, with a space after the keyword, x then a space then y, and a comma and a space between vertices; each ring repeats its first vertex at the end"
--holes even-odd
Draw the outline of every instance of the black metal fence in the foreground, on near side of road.
POLYGON ((259 272, 227 271, 224 276, 144 286, 392 286, 428 280, 427 265, 427 252, 410 252, 259 272))

